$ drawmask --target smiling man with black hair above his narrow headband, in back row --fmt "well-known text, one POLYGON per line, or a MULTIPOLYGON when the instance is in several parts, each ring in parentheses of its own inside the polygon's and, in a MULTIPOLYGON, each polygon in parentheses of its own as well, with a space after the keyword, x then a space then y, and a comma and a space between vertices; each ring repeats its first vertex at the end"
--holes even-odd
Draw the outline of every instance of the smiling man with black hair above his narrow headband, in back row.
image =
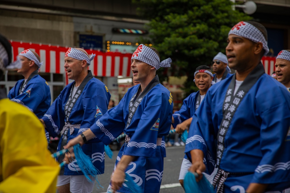
MULTIPOLYGON (((201 65, 195 69, 194 82, 199 91, 191 93, 183 100, 183 104, 179 111, 174 112, 172 115, 172 125, 176 130, 176 133, 182 134, 185 130, 189 130, 189 126, 192 121, 193 114, 200 106, 201 102, 206 95, 206 92, 211 87, 213 82, 213 74, 210 71, 210 67, 201 65)), ((183 187, 184 177, 191 166, 191 162, 185 155, 179 173, 179 182, 183 187)), ((209 181, 212 181, 213 177, 206 173, 203 173, 209 181)), ((213 175, 214 176, 214 175, 213 175)))

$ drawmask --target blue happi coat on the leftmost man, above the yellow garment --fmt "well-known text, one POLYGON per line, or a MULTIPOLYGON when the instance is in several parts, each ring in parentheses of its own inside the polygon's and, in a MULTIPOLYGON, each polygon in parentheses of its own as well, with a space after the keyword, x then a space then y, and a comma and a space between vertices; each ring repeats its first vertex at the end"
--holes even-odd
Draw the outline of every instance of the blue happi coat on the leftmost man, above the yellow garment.
POLYGON ((9 91, 8 98, 18 102, 41 118, 50 107, 50 89, 48 83, 39 75, 33 76, 28 81, 22 94, 19 89, 24 79, 18 80, 15 86, 9 91))

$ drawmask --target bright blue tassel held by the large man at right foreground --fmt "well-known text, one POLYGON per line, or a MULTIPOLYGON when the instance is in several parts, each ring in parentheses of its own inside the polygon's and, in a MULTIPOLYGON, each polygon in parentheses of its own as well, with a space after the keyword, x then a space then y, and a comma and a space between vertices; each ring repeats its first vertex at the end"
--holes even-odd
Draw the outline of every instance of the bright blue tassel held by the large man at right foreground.
POLYGON ((213 186, 206 177, 202 177, 199 182, 196 182, 195 176, 192 172, 188 172, 184 177, 184 190, 186 193, 214 193, 213 186))

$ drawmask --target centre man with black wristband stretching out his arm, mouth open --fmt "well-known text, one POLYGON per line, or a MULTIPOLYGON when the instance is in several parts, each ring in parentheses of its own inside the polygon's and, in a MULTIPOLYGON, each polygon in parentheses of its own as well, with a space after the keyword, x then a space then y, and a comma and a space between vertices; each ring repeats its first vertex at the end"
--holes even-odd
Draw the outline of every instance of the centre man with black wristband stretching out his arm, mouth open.
POLYGON ((128 89, 117 106, 82 136, 69 141, 66 148, 82 145, 96 136, 104 144, 109 144, 124 132, 125 144, 117 156, 108 192, 130 192, 125 184, 122 185, 125 172, 142 192, 159 192, 165 155, 162 137, 170 130, 173 101, 171 93, 160 84, 156 70, 170 67, 171 59, 160 62, 155 48, 141 44, 133 53, 131 62, 134 80, 140 84, 128 89))

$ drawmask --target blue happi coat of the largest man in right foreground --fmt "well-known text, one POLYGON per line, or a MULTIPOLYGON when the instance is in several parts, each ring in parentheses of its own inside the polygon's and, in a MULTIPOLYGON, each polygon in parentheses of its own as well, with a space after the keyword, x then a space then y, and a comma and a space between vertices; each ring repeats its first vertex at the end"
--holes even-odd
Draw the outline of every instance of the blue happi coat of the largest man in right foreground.
MULTIPOLYGON (((220 148, 216 137, 222 110, 231 108, 223 105, 231 77, 208 90, 186 141, 186 154, 202 150, 209 171, 220 148)), ((224 138, 220 169, 235 173, 224 182, 224 192, 244 192, 250 183, 269 184, 267 191, 281 191, 290 184, 290 93, 264 73, 242 97, 224 138)))

